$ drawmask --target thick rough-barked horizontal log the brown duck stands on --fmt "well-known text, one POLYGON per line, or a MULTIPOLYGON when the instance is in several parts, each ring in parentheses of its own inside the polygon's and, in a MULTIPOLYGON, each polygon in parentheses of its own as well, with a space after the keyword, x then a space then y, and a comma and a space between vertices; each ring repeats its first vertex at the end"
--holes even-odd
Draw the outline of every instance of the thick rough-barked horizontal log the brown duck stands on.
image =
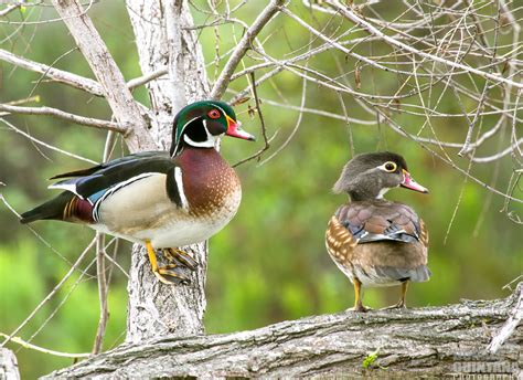
POLYGON ((523 376, 521 326, 498 352, 490 353, 487 347, 514 313, 522 291, 520 284, 505 299, 345 312, 231 335, 163 337, 120 346, 49 378, 498 374, 512 379, 523 376))

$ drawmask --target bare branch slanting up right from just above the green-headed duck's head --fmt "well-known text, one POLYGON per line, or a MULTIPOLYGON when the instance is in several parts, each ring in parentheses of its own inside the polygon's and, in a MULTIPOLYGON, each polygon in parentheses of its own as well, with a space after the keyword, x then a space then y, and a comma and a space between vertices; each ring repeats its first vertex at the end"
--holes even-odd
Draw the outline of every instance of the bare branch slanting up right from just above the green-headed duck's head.
POLYGON ((258 18, 253 22, 249 29, 245 31, 244 36, 239 40, 239 43, 236 45, 236 49, 231 54, 227 63, 222 70, 220 77, 216 80, 213 89, 211 91, 211 98, 220 99, 227 88, 231 77, 236 70, 239 61, 244 57, 247 50, 250 48, 254 39, 258 33, 264 29, 264 27, 273 19, 273 17, 278 12, 280 7, 287 0, 271 0, 270 3, 264 9, 264 11, 258 15, 258 18))

